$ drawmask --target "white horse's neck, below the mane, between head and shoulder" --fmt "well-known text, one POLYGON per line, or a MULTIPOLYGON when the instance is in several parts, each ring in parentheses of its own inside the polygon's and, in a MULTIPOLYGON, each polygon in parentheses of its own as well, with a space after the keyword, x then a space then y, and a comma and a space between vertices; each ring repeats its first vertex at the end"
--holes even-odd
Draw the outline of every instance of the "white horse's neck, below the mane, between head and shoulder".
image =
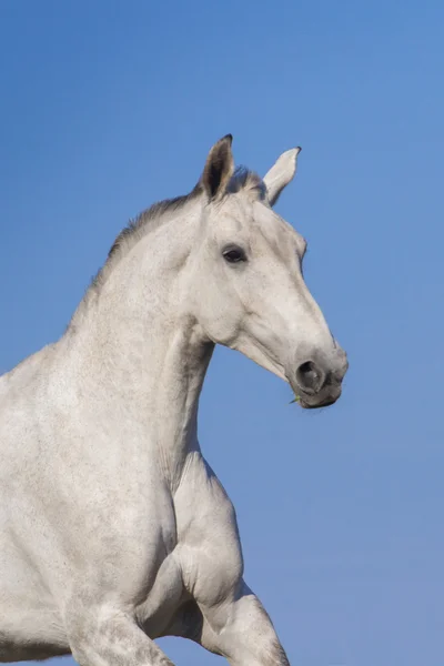
POLYGON ((168 224, 120 259, 70 343, 94 418, 123 414, 141 445, 154 447, 172 487, 186 455, 199 448, 199 396, 213 351, 183 306, 186 285, 178 264, 186 264, 193 223, 179 223, 175 242, 168 224))

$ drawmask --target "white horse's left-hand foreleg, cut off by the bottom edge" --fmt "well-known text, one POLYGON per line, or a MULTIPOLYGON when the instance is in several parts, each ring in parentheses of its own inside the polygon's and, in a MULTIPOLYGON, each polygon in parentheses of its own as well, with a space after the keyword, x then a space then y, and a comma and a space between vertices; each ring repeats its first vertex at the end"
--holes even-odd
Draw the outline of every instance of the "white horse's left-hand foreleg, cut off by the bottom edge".
POLYGON ((80 666, 174 666, 125 608, 75 603, 65 623, 71 653, 80 666))

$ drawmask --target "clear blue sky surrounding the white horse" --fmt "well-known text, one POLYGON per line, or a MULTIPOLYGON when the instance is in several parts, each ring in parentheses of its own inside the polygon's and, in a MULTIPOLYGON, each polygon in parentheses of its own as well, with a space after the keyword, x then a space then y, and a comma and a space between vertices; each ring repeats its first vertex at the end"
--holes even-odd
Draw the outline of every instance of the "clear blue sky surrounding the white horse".
POLYGON ((343 397, 303 413, 219 350, 200 420, 294 665, 444 664, 443 26, 438 0, 0 2, 0 372, 220 137, 260 173, 303 147, 278 209, 349 352, 343 397))

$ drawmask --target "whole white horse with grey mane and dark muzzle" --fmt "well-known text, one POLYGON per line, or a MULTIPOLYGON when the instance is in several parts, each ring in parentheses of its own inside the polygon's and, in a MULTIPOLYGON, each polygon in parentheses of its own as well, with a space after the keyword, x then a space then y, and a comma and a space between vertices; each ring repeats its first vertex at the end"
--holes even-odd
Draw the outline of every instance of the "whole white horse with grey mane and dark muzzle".
POLYGON ((332 404, 346 372, 272 210, 300 149, 262 180, 231 135, 188 196, 117 239, 54 344, 0 377, 0 660, 171 666, 191 638, 232 666, 284 666, 243 579, 234 508, 202 456, 198 402, 216 343, 332 404))

